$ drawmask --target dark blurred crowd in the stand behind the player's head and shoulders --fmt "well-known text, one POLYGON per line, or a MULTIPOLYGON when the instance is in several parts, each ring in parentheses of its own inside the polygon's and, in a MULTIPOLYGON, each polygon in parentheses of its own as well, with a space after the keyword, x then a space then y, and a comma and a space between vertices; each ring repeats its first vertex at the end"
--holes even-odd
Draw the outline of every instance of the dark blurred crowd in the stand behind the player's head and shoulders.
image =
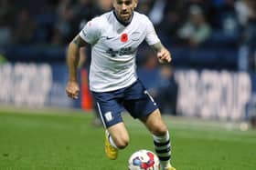
MULTIPOLYGON (((67 45, 112 0, 1 0, 0 45, 67 45)), ((139 0, 168 45, 255 46, 255 0, 139 0), (221 44, 221 45, 222 45, 221 44)))

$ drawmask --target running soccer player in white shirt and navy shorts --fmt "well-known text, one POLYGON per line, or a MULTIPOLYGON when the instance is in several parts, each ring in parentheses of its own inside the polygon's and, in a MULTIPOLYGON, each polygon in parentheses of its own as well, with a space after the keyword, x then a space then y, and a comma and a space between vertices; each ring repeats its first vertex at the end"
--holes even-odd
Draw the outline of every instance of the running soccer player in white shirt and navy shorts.
POLYGON ((69 82, 67 95, 79 97, 77 65, 80 47, 91 45, 90 89, 94 95, 105 131, 105 152, 116 159, 118 150, 129 143, 123 123, 126 109, 152 133, 155 153, 163 170, 176 170, 170 164, 171 145, 167 127, 151 95, 136 75, 135 55, 145 40, 155 49, 160 63, 171 62, 147 16, 134 11, 138 0, 112 0, 113 10, 93 18, 68 48, 69 82))

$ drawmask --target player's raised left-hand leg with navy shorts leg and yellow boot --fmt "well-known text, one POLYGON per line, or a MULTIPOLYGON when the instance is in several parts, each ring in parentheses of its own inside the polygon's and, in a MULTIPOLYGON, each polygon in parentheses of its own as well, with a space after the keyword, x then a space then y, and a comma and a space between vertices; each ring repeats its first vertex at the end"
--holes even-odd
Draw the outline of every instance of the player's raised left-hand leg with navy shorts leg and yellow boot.
POLYGON ((123 124, 123 106, 112 93, 93 93, 97 101, 99 115, 105 127, 105 153, 109 159, 116 159, 118 149, 129 143, 129 135, 123 124))

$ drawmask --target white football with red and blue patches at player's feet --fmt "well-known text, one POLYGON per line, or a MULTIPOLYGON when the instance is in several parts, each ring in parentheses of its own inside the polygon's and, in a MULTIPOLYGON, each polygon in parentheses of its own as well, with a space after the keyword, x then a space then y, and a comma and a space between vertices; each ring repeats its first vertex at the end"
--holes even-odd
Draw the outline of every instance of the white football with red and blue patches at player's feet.
POLYGON ((149 150, 139 150, 130 156, 128 161, 129 170, 160 170, 157 155, 149 150))

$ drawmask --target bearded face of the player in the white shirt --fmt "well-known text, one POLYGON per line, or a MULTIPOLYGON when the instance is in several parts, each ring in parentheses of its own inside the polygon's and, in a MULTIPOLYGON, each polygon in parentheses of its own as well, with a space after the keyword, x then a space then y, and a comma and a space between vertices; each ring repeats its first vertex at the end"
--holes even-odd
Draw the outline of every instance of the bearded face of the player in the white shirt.
POLYGON ((124 23, 130 22, 134 8, 137 4, 137 0, 113 0, 115 13, 124 23))

